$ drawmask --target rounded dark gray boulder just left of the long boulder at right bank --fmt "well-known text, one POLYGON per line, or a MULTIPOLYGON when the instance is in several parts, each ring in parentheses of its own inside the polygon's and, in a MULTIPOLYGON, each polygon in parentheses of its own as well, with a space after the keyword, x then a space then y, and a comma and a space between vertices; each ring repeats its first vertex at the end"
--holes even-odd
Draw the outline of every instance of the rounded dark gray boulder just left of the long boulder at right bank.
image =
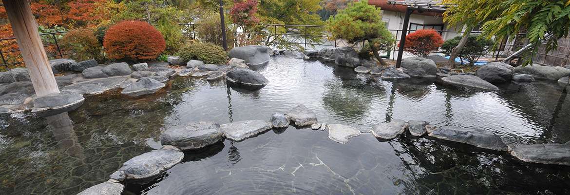
POLYGON ((479 78, 490 83, 503 83, 512 79, 514 67, 502 62, 491 62, 477 70, 479 78))

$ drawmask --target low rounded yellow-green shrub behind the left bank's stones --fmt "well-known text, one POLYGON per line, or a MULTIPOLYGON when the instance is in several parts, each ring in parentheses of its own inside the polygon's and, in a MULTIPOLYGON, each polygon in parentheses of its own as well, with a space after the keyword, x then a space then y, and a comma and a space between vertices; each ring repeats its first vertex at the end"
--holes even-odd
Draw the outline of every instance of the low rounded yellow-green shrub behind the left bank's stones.
POLYGON ((186 45, 180 52, 182 60, 202 60, 206 64, 226 63, 227 52, 222 47, 211 43, 191 43, 186 45))

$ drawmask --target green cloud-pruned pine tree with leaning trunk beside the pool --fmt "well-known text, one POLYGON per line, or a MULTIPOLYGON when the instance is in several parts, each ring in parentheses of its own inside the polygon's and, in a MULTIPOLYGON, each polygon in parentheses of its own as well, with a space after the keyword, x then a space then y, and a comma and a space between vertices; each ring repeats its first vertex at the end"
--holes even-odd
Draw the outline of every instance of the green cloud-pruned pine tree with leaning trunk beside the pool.
POLYGON ((345 39, 349 43, 367 40, 372 54, 382 65, 387 65, 378 55, 378 48, 389 49, 396 43, 392 33, 386 30, 382 22, 381 11, 368 1, 353 2, 340 10, 334 18, 327 20, 327 31, 333 39, 345 39))

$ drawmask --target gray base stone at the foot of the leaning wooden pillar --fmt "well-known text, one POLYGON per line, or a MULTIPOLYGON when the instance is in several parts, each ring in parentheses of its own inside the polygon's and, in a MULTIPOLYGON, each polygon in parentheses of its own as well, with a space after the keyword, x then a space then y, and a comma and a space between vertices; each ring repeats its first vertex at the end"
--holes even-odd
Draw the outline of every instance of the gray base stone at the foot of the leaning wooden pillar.
POLYGON ((71 111, 83 104, 82 95, 63 91, 38 97, 34 100, 32 112, 40 115, 54 115, 57 113, 71 111))

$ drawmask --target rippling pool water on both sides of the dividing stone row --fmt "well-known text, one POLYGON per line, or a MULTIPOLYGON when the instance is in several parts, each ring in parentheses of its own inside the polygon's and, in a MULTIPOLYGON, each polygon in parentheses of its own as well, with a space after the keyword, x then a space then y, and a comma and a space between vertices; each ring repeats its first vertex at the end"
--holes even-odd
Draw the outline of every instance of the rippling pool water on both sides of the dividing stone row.
MULTIPOLYGON (((144 100, 90 97, 69 113, 0 116, 0 192, 74 194, 108 179, 121 164, 160 147, 160 132, 196 120, 269 120, 298 104, 320 123, 360 129, 392 119, 481 127, 514 144, 570 140, 570 98, 552 82, 465 91, 410 79, 386 82, 317 60, 272 58, 255 70, 257 91, 225 81, 177 78, 144 100)), ((371 134, 347 144, 326 131, 289 127, 235 143, 185 151, 185 160, 125 194, 568 194, 570 168, 521 162, 492 152, 401 135, 371 134)))

